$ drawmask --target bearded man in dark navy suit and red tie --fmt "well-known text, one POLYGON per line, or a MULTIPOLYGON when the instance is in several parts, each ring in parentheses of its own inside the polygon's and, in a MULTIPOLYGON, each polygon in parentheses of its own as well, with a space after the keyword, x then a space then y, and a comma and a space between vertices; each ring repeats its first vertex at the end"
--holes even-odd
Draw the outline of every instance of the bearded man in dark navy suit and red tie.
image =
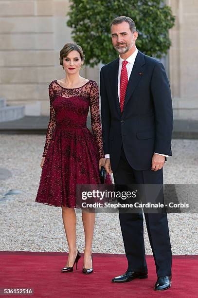
MULTIPOLYGON (((163 184, 162 168, 171 155, 172 100, 161 62, 137 48, 132 19, 110 25, 112 44, 120 54, 101 69, 101 114, 105 168, 115 184, 163 184)), ((171 245, 166 213, 145 213, 156 265, 155 290, 171 286, 171 245)), ((128 268, 112 282, 147 278, 143 214, 119 213, 128 268)))

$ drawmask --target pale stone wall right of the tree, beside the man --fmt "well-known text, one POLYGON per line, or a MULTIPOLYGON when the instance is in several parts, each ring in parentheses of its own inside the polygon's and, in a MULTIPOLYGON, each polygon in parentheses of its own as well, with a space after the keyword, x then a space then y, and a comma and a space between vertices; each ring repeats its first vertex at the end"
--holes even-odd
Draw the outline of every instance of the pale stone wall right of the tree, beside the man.
POLYGON ((169 51, 174 117, 198 120, 198 0, 167 2, 176 16, 169 51))

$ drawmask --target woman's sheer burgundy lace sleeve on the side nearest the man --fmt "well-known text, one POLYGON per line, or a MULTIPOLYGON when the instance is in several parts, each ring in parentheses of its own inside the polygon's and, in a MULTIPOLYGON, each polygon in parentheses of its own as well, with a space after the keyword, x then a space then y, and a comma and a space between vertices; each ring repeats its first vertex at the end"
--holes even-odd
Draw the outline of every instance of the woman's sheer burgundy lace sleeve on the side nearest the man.
POLYGON ((98 85, 93 81, 90 89, 90 114, 91 114, 91 128, 93 135, 96 138, 100 158, 104 158, 103 142, 102 142, 102 128, 100 121, 99 109, 99 92, 98 85))

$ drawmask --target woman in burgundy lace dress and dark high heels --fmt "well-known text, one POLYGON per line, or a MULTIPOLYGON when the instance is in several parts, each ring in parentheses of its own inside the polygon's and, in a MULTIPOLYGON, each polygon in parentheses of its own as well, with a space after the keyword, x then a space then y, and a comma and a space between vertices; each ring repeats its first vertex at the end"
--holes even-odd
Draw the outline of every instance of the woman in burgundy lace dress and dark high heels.
MULTIPOLYGON (((100 184, 99 170, 105 164, 96 82, 79 75, 84 62, 82 48, 67 43, 60 51, 66 77, 49 85, 50 121, 41 162, 36 202, 62 207, 69 255, 62 272, 72 272, 80 259, 76 248, 76 184, 100 184), (91 127, 87 128, 90 107, 91 127)), ((106 183, 111 178, 106 176, 106 183)), ((91 245, 95 213, 83 212, 85 250, 83 273, 93 272, 91 245)))

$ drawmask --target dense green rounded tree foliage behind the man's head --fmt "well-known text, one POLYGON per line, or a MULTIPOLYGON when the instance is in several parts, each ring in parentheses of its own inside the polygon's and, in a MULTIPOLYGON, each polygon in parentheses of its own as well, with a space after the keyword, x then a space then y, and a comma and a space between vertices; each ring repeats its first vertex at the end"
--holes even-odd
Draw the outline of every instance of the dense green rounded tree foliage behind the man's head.
POLYGON ((111 43, 109 25, 118 16, 135 21, 139 33, 137 48, 157 58, 171 45, 168 30, 174 26, 171 8, 162 0, 70 0, 69 20, 72 39, 85 53, 85 63, 93 67, 117 58, 111 43))

